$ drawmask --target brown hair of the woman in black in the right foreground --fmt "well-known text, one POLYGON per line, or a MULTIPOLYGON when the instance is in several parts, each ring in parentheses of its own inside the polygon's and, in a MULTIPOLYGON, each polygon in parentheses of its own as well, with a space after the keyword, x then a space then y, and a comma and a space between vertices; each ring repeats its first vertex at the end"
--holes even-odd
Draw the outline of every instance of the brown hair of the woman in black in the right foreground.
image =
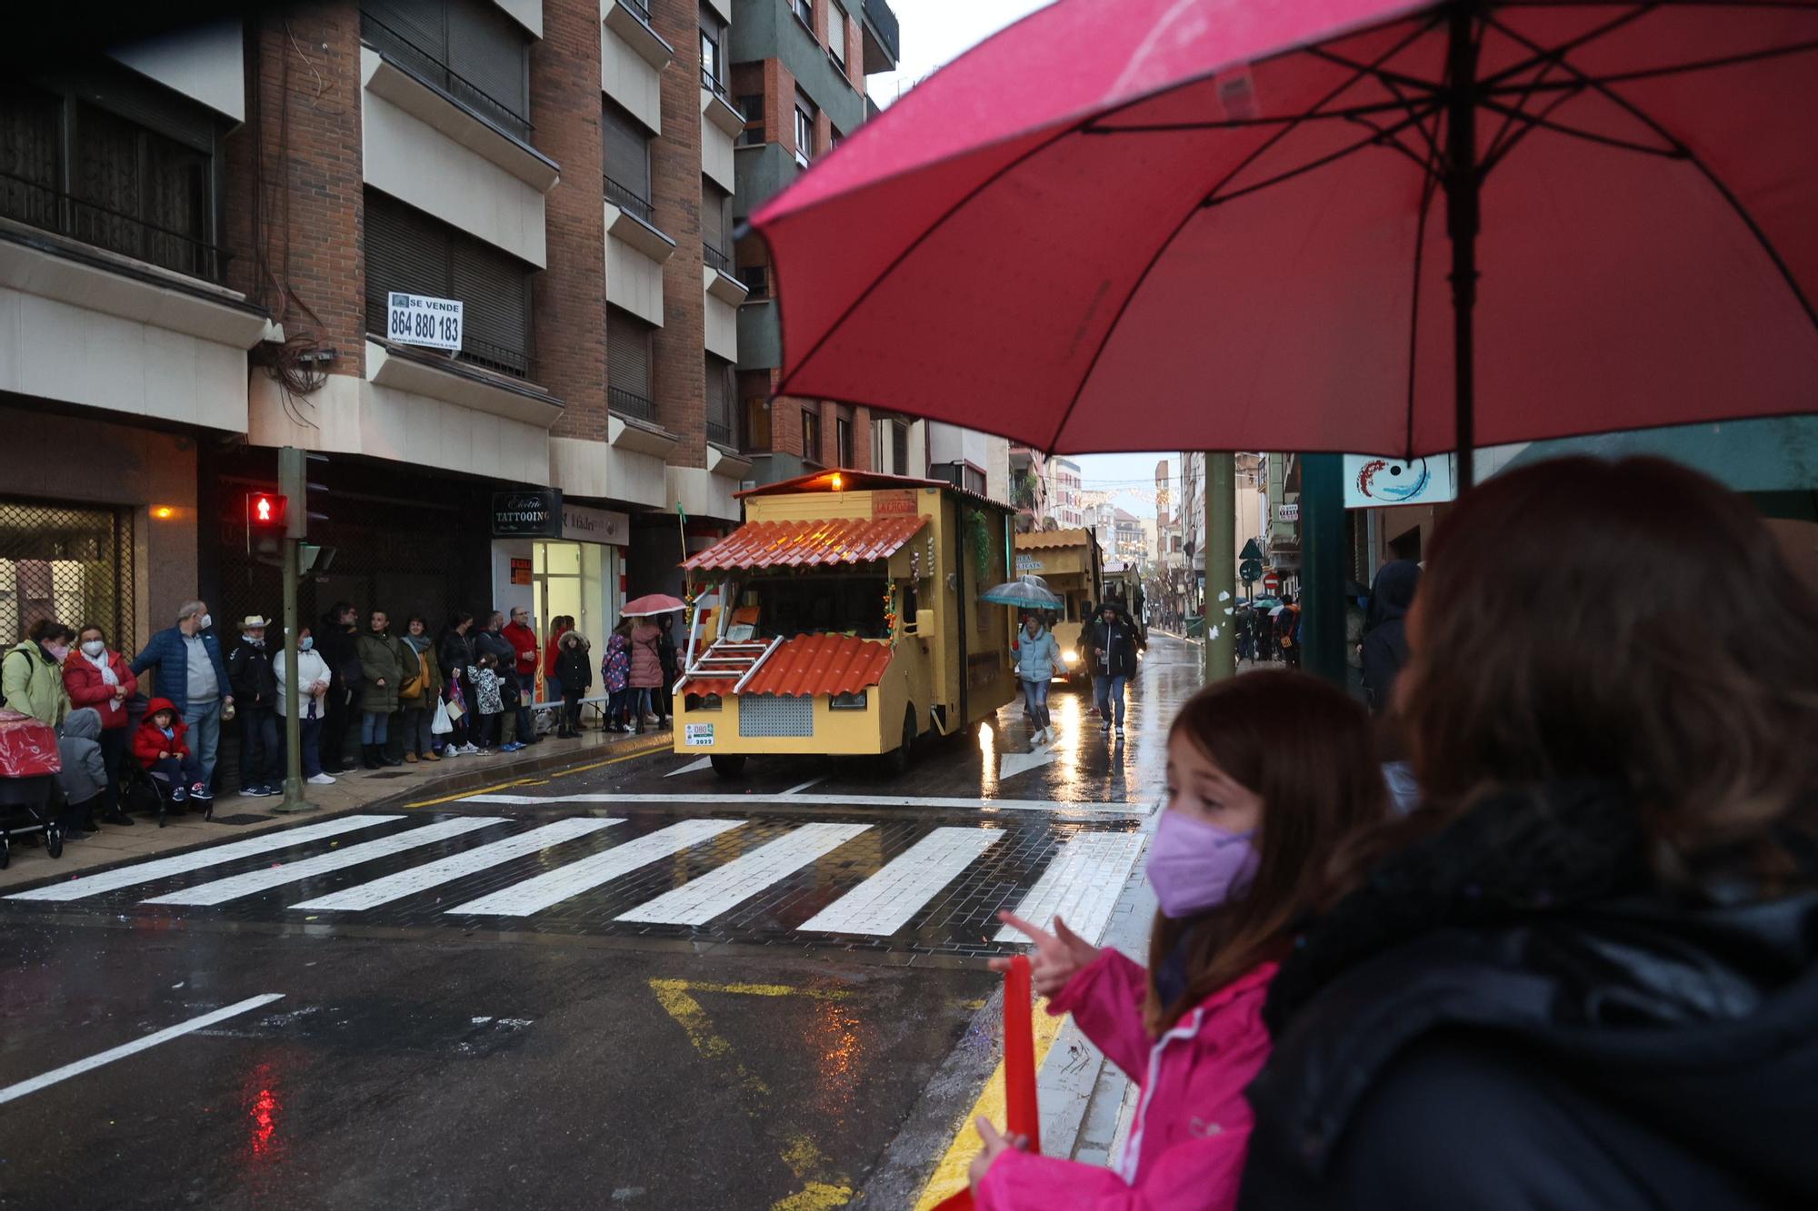
POLYGON ((1680 882, 1793 873, 1818 811, 1818 600, 1749 504, 1660 458, 1498 475, 1440 524, 1398 696, 1434 829, 1483 795, 1602 782, 1680 882), (1727 856, 1725 856, 1727 855, 1727 856))

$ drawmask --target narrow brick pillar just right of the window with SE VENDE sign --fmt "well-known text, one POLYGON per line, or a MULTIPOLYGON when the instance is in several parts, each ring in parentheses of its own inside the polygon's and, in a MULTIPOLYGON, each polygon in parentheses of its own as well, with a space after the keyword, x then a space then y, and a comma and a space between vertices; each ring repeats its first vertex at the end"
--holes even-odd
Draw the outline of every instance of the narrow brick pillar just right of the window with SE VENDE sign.
MULTIPOLYGON (((545 4, 531 47, 536 149, 562 165, 544 198, 549 267, 536 275, 536 376, 567 407, 554 436, 607 436, 605 211, 600 202, 600 13, 593 4, 545 4)), ((667 122, 667 118, 665 118, 667 122)))

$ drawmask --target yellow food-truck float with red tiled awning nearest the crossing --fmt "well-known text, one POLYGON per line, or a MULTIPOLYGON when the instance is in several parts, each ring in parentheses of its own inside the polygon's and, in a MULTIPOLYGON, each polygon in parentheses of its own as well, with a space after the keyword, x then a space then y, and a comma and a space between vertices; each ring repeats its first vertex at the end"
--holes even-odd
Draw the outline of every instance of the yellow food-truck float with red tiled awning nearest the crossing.
POLYGON ((1011 509, 945 480, 820 471, 740 493, 745 522, 682 567, 696 609, 674 751, 720 776, 764 753, 874 755, 973 729, 1014 691, 1011 509))

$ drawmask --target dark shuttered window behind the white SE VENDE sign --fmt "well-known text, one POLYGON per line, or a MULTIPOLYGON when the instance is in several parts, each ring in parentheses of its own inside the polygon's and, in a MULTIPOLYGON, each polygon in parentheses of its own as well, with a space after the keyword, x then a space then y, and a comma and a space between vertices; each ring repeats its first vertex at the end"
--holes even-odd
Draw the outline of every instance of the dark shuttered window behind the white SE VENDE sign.
POLYGON ((365 191, 365 325, 385 335, 387 295, 462 302, 465 362, 529 378, 536 267, 375 189, 365 191))

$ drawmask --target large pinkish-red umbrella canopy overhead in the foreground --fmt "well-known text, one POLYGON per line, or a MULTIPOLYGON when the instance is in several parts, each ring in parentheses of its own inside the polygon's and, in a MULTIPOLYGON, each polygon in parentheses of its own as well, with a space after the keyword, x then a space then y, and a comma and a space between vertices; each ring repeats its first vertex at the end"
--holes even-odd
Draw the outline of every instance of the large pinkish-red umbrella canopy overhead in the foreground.
POLYGON ((1814 0, 1060 0, 754 216, 780 391, 1051 451, 1813 411, 1814 118, 1814 0))

